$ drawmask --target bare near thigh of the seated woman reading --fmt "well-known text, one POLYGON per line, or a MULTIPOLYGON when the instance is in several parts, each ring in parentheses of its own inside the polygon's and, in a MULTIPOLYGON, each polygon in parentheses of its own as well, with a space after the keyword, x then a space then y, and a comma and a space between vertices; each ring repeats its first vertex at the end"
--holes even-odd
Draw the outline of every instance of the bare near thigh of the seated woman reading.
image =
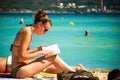
POLYGON ((32 63, 21 67, 16 74, 16 78, 32 77, 33 75, 39 73, 40 71, 43 71, 47 66, 53 64, 55 58, 56 56, 52 56, 49 58, 41 57, 36 59, 32 63))

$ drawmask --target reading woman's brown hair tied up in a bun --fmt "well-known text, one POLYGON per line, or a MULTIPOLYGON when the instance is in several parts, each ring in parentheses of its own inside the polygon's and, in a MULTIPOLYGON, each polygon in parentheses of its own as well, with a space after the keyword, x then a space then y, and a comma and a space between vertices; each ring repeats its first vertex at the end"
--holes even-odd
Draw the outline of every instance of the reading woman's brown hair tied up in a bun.
POLYGON ((40 9, 34 16, 34 23, 37 22, 42 22, 42 24, 45 24, 46 22, 50 22, 50 24, 52 25, 51 20, 49 19, 48 15, 46 14, 46 12, 43 9, 40 9))

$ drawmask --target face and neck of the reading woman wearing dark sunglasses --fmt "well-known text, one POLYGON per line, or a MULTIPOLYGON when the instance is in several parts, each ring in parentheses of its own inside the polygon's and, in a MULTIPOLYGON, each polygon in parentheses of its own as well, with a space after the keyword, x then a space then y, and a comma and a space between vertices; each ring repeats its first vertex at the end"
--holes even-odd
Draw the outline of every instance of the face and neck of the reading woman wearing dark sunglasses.
POLYGON ((45 34, 51 27, 50 22, 47 22, 45 24, 42 24, 42 22, 38 23, 38 27, 36 29, 36 34, 40 35, 40 34, 45 34))

